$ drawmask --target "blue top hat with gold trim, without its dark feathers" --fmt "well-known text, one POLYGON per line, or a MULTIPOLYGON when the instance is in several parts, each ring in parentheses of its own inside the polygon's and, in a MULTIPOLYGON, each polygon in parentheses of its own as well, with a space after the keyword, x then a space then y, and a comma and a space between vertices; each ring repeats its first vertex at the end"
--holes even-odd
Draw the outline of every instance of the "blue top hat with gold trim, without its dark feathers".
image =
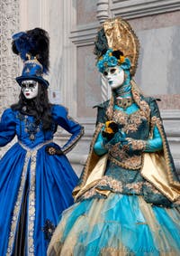
POLYGON ((40 62, 32 57, 30 60, 24 62, 22 75, 16 78, 16 81, 22 86, 22 81, 33 80, 38 81, 40 84, 49 87, 49 81, 45 80, 43 77, 43 67, 40 62))

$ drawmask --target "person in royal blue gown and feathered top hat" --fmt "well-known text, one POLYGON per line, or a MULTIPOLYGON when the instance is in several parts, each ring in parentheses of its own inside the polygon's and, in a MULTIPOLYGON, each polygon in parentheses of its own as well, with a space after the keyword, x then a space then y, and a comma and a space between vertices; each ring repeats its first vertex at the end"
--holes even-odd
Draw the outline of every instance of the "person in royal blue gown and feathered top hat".
POLYGON ((13 52, 23 60, 19 101, 5 109, 0 147, 17 137, 0 160, 0 255, 46 256, 59 214, 74 203, 77 176, 66 153, 83 127, 61 105, 50 104, 49 34, 34 28, 13 36, 13 52), (69 133, 63 147, 53 142, 57 128, 69 133))

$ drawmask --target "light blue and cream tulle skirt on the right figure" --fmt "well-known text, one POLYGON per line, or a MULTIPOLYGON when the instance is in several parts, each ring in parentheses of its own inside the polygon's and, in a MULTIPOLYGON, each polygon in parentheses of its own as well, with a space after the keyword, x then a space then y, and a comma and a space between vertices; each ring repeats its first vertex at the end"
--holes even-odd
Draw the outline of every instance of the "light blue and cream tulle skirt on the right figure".
POLYGON ((74 204, 61 216, 49 256, 180 255, 180 213, 141 196, 110 194, 74 204))

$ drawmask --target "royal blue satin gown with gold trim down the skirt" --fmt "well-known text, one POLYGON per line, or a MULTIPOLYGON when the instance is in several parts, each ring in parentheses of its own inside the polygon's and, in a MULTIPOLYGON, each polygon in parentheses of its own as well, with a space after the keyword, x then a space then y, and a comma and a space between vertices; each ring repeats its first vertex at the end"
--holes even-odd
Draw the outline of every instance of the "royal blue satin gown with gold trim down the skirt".
POLYGON ((46 147, 58 147, 53 136, 60 126, 71 134, 61 148, 67 153, 82 136, 83 128, 67 116, 63 106, 53 105, 52 119, 51 130, 43 132, 41 125, 33 125, 33 117, 4 110, 0 146, 4 147, 15 136, 18 142, 0 161, 1 256, 46 255, 49 243, 46 230, 53 229, 59 214, 74 202, 72 190, 77 176, 67 156, 51 156, 46 147), (18 240, 23 244, 17 243, 18 240))

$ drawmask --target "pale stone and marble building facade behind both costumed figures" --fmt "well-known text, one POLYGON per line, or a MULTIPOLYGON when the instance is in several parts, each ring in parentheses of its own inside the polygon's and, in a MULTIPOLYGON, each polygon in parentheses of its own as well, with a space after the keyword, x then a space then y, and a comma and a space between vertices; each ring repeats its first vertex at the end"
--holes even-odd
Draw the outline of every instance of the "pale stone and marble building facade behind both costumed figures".
MULTIPOLYGON (((80 174, 94 133, 93 106, 110 96, 95 68, 94 38, 100 24, 116 16, 127 19, 139 36, 135 81, 145 94, 161 99, 166 135, 180 171, 180 1, 0 0, 0 111, 19 94, 14 78, 21 74, 22 63, 11 51, 12 34, 34 27, 47 30, 49 99, 65 105, 85 126, 85 136, 68 155, 80 174)), ((55 139, 61 145, 67 137, 59 129, 55 139)), ((1 148, 1 156, 7 147, 1 148)))

